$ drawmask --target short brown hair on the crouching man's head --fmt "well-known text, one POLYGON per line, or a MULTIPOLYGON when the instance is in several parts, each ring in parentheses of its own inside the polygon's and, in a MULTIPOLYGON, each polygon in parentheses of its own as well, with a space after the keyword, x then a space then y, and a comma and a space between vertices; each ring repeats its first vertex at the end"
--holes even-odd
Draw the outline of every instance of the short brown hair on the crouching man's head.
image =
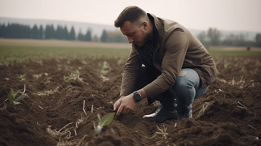
POLYGON ((126 7, 114 21, 114 26, 119 28, 125 21, 130 21, 133 25, 140 26, 139 20, 141 17, 147 16, 147 13, 137 6, 126 7))

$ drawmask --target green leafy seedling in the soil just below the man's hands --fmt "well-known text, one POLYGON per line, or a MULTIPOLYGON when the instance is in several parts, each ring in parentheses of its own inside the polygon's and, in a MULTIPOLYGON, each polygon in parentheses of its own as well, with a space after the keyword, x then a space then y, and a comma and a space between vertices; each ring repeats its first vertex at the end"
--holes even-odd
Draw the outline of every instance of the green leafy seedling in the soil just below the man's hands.
POLYGON ((98 116, 98 119, 99 119, 99 123, 98 123, 97 127, 95 126, 95 123, 93 123, 94 132, 99 135, 102 128, 104 126, 109 125, 112 122, 114 114, 115 114, 115 112, 108 113, 107 115, 105 115, 103 118, 100 119, 100 114, 98 113, 97 116, 98 116))

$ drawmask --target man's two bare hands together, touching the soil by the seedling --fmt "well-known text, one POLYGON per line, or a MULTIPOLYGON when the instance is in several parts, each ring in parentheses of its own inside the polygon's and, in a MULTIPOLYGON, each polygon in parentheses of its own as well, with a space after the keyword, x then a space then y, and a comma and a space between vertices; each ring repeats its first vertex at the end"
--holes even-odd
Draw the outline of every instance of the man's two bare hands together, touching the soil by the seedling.
POLYGON ((120 113, 128 113, 129 111, 133 110, 136 105, 136 102, 133 98, 133 94, 129 94, 128 96, 125 97, 120 97, 114 105, 113 105, 113 110, 118 109, 116 116, 120 115, 120 113))

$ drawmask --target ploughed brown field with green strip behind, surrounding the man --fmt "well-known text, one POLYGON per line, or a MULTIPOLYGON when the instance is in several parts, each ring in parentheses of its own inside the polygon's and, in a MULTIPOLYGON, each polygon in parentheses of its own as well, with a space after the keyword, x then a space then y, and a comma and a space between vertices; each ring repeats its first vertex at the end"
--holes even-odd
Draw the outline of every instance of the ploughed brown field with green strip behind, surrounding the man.
POLYGON ((0 146, 261 146, 259 48, 208 50, 218 79, 194 100, 193 119, 147 121, 142 116, 158 103, 142 100, 97 135, 97 114, 115 112, 129 47, 0 39, 0 146), (79 77, 64 80, 77 70, 79 77), (24 92, 21 104, 7 100, 11 88, 24 92))

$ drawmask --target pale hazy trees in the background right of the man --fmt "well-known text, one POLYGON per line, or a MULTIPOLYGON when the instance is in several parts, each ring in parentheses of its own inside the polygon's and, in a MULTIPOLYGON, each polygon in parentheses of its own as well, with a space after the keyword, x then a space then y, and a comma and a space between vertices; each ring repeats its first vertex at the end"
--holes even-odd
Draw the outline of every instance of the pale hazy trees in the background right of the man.
POLYGON ((222 34, 216 28, 209 28, 207 33, 202 31, 198 36, 201 43, 207 46, 251 46, 261 47, 261 34, 257 33, 255 40, 247 40, 244 34, 230 34, 221 40, 222 34))

